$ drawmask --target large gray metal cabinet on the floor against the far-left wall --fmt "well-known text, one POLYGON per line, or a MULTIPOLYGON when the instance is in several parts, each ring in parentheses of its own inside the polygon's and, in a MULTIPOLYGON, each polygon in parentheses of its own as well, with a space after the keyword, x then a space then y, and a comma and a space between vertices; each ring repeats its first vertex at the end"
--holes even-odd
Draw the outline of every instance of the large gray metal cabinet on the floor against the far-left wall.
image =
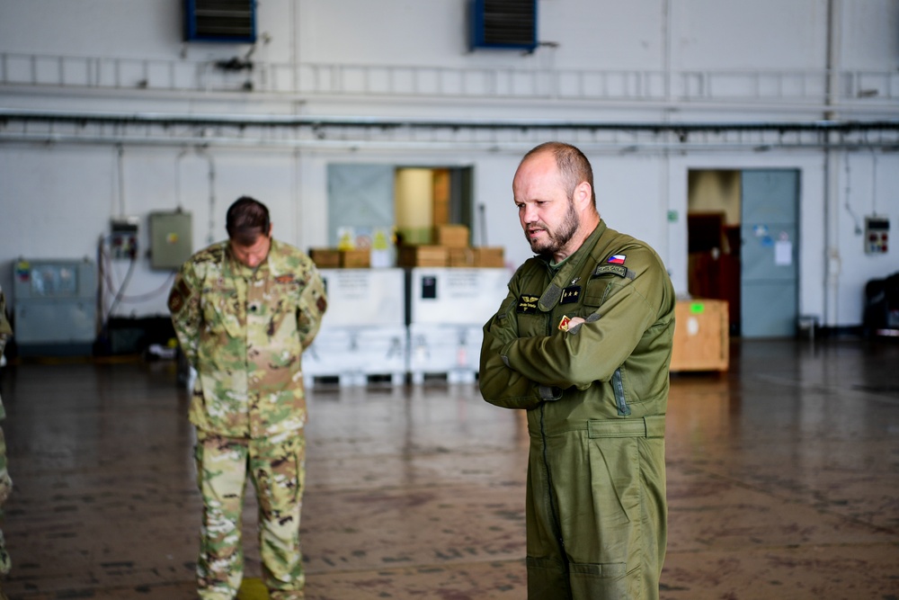
POLYGON ((22 355, 91 354, 97 270, 87 260, 24 260, 13 273, 15 341, 22 355))

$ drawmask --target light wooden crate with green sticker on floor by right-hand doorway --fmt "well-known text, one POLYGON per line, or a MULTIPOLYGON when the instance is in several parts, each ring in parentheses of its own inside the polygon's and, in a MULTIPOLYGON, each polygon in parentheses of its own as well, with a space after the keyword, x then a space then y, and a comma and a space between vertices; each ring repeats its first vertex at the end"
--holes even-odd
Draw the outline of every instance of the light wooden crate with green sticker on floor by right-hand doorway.
POLYGON ((678 300, 672 372, 727 371, 729 346, 725 300, 678 300))

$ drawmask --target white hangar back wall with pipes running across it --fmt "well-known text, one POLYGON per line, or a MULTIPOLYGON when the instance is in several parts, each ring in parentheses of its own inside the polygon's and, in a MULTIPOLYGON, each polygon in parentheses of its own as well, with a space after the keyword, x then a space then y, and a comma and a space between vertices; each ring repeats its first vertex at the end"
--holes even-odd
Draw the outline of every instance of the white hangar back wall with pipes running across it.
MULTIPOLYGON (((545 43, 522 53, 468 49, 458 0, 266 0, 254 46, 183 42, 180 3, 169 0, 0 0, 0 285, 12 287, 19 256, 95 256, 116 214, 146 223, 149 212, 181 205, 199 249, 224 236, 224 210, 243 193, 270 205, 276 235, 325 245, 334 162, 472 167, 485 217, 475 226, 520 264, 529 252, 512 174, 533 142, 561 137, 592 158, 603 218, 655 246, 678 291, 686 291, 688 171, 798 169, 799 311, 830 327, 859 324, 864 283, 897 265, 895 251, 866 255, 858 226, 875 213, 899 222, 899 5, 539 0, 538 8, 545 43), (253 68, 217 66, 235 57, 253 68), (254 138, 181 124, 147 126, 156 128, 149 135, 115 123, 21 121, 16 112, 449 121, 461 133, 419 128, 386 139, 371 128, 316 136, 287 127, 254 138), (788 139, 628 130, 825 120, 885 125, 788 139), (510 122, 522 133, 480 129, 510 122), (546 127, 553 122, 576 126, 546 127), (619 129, 598 134, 595 123, 619 129)), ((146 226, 140 236, 146 247, 146 226)), ((115 267, 120 281, 125 267, 115 267)), ((153 292, 169 277, 139 260, 129 282, 138 300, 117 314, 165 314, 165 294, 153 292)))

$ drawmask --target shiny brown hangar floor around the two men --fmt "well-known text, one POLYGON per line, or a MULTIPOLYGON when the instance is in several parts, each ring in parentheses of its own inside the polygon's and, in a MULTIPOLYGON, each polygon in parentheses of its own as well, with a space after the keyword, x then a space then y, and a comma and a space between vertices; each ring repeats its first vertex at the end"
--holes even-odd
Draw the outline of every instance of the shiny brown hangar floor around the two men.
MULTIPOLYGON (((899 344, 735 342, 672 377, 669 600, 899 597, 899 344)), ((200 500, 170 363, 4 369, 13 600, 194 597, 200 500)), ((475 385, 311 390, 309 600, 526 597, 523 415, 475 385)), ((259 577, 252 494, 248 587, 259 577)))

